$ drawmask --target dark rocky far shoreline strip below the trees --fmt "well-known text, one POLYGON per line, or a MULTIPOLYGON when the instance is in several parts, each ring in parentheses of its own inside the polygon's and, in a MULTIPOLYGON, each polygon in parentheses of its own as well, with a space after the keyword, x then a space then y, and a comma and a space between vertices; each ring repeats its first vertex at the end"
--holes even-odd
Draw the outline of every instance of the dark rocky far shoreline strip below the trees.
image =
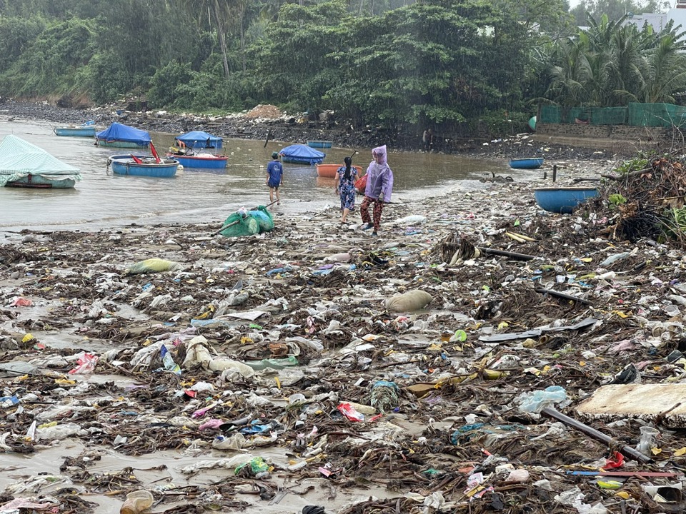
MULTIPOLYGON (((249 111, 226 116, 202 116, 196 114, 170 114, 166 111, 125 111, 124 106, 96 106, 89 109, 69 109, 51 106, 46 101, 28 102, 6 100, 0 104, 0 116, 10 119, 34 119, 54 124, 81 124, 94 120, 105 129, 114 121, 135 126, 148 131, 165 133, 184 133, 204 130, 219 136, 247 138, 258 141, 277 139, 292 143, 305 143, 309 140, 325 139, 336 146, 347 148, 374 148, 386 144, 397 152, 423 152, 422 134, 394 133, 378 131, 372 127, 354 129, 345 121, 305 121, 299 123, 289 114, 275 114, 274 106, 257 106, 253 111, 264 111, 266 117, 250 114, 249 111), (121 114, 117 114, 117 112, 121 114)), ((435 139, 432 151, 455 153, 464 156, 492 158, 528 158, 545 156, 550 159, 598 161, 604 159, 621 160, 631 158, 632 153, 614 153, 558 143, 533 142, 532 133, 513 133, 509 137, 493 140, 480 138, 435 139)))

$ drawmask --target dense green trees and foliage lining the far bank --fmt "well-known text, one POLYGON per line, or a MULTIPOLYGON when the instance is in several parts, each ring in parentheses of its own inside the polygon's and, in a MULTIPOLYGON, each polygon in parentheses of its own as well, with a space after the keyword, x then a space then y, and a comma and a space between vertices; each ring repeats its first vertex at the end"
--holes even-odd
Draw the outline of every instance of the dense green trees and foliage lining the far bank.
POLYGON ((139 96, 199 112, 272 103, 357 126, 481 119, 508 133, 542 101, 677 101, 680 34, 625 24, 617 13, 642 7, 631 2, 0 0, 0 96, 139 96))

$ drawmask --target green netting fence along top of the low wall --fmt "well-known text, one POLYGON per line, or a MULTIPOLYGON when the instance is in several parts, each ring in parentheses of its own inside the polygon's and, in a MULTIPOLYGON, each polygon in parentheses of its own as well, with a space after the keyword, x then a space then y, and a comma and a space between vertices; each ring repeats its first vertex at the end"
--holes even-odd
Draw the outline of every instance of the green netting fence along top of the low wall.
POLYGON ((686 107, 672 104, 629 104, 627 107, 541 106, 542 124, 686 126, 686 107))

